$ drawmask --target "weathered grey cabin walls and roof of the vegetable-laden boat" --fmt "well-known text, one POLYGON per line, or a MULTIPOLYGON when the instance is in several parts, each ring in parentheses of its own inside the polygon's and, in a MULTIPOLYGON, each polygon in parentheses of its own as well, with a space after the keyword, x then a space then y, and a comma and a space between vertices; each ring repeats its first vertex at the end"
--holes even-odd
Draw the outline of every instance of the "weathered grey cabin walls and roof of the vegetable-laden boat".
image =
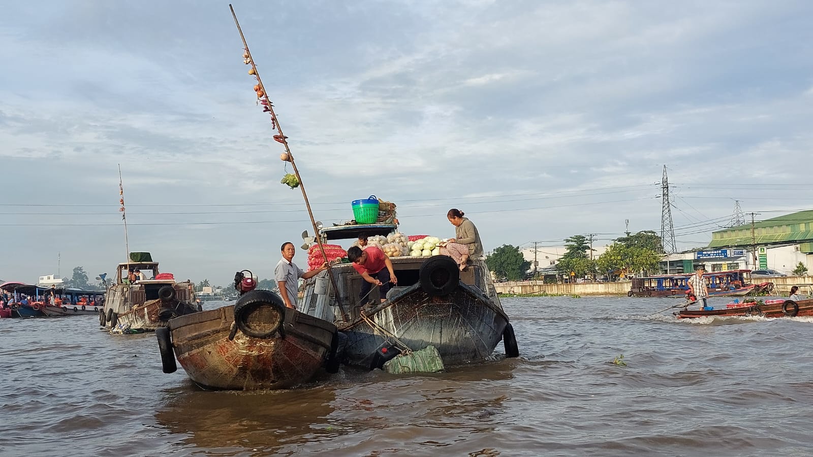
MULTIPOLYGON (((398 226, 393 224, 333 226, 322 229, 320 236, 323 243, 333 243, 338 239, 358 239, 359 235, 388 235, 396 230, 398 230, 398 226)), ((398 278, 398 285, 391 288, 386 297, 381 297, 379 288, 373 287, 364 303, 367 303, 367 301, 376 302, 381 298, 393 298, 417 284, 420 281, 420 266, 428 258, 391 257, 389 260, 393 264, 393 271, 398 278)), ((333 265, 330 271, 333 271, 333 277, 336 279, 338 293, 333 291, 333 283, 328 277, 328 271, 324 271, 305 282, 305 293, 299 302, 298 308, 304 313, 331 322, 343 321, 344 317, 349 318, 351 321, 358 318, 363 305, 359 295, 364 278, 350 263, 333 265), (342 316, 342 313, 346 313, 346 316, 342 316)), ((491 282, 491 274, 489 274, 489 269, 485 266, 485 260, 473 259, 472 265, 469 265, 465 271, 461 272, 460 281, 468 286, 480 289, 484 295, 488 296, 489 300, 499 305, 497 291, 491 282)))

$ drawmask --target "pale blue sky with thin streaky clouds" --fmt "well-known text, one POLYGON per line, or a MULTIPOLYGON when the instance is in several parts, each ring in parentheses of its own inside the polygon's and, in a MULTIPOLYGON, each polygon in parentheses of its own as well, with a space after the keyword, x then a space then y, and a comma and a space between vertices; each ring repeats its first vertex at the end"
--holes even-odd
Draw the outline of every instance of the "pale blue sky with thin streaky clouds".
MULTIPOLYGON (((813 2, 233 6, 326 225, 376 195, 408 235, 454 236, 458 208, 486 251, 606 244, 660 231, 664 165, 680 249, 735 200, 813 208, 813 2)), ((272 276, 312 229, 242 54, 226 2, 4 6, 0 279, 114 271, 119 166, 130 251, 195 282, 272 276)))

